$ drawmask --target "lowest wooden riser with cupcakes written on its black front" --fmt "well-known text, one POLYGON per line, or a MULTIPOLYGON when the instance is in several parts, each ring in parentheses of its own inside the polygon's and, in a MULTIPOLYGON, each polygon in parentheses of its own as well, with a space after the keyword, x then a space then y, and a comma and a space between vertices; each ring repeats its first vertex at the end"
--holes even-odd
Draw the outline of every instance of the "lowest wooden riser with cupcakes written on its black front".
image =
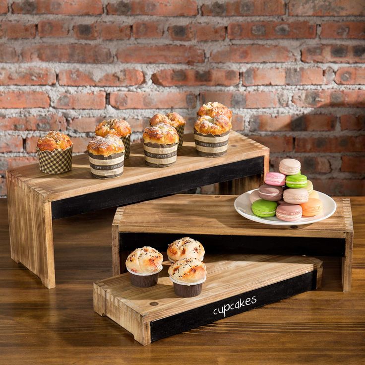
POLYGON ((320 287, 322 261, 308 256, 206 256, 202 293, 180 298, 164 262, 156 286, 137 288, 129 273, 94 283, 94 310, 142 345, 320 287))

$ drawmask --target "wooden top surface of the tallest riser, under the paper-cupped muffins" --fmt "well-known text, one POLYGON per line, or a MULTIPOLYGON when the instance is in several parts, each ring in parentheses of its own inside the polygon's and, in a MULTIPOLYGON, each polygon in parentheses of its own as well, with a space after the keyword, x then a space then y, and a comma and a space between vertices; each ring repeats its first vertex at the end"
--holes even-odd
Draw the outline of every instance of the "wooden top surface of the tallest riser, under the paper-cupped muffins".
POLYGON ((196 154, 193 134, 188 133, 184 135, 183 148, 178 151, 177 162, 166 168, 145 165, 143 144, 137 143, 131 145, 123 175, 116 179, 92 178, 87 154, 74 156, 72 170, 60 175, 44 174, 39 170, 38 164, 12 169, 8 173, 16 175, 19 180, 44 195, 46 201, 54 201, 268 155, 269 148, 231 131, 226 155, 218 158, 199 157, 196 154))

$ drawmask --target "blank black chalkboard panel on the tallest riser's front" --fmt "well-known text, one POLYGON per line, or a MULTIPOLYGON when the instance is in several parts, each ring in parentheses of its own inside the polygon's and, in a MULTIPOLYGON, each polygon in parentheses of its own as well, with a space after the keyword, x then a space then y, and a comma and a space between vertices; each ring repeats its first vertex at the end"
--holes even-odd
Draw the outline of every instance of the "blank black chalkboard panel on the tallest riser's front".
POLYGON ((75 214, 128 205, 139 201, 176 194, 180 191, 199 186, 262 174, 263 171, 264 157, 259 156, 161 179, 147 180, 140 183, 56 200, 52 202, 52 218, 64 218, 75 214))

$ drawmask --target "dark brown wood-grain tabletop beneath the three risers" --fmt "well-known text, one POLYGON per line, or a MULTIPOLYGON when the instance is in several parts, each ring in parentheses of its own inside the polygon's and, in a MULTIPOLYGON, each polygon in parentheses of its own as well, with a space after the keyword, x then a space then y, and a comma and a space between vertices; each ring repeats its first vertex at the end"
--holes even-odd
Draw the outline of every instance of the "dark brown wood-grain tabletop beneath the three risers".
POLYGON ((319 257, 320 290, 143 347, 93 311, 92 283, 112 275, 115 209, 55 221, 58 285, 47 290, 10 259, 0 200, 0 364, 365 364, 365 197, 351 198, 351 205, 350 293, 342 292, 339 258, 319 257))

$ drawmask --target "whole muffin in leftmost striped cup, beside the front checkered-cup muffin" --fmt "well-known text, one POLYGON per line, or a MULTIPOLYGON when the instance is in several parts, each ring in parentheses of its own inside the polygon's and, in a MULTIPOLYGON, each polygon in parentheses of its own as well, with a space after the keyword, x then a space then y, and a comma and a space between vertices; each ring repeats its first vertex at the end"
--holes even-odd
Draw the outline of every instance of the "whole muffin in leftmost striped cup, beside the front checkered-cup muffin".
POLYGON ((124 145, 114 134, 95 136, 88 144, 91 175, 97 179, 113 179, 121 176, 124 167, 124 145))

